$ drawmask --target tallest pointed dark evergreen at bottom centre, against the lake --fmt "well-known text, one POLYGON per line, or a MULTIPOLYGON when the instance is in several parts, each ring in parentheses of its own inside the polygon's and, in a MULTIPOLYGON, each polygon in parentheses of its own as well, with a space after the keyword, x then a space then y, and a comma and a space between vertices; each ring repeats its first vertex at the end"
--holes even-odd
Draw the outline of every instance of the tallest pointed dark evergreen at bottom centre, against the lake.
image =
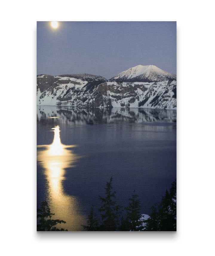
POLYGON ((102 201, 103 205, 99 209, 102 217, 102 231, 117 231, 119 226, 119 215, 121 206, 116 204, 116 191, 112 192, 112 180, 110 178, 110 182, 107 182, 105 188, 105 197, 99 196, 100 200, 102 201))

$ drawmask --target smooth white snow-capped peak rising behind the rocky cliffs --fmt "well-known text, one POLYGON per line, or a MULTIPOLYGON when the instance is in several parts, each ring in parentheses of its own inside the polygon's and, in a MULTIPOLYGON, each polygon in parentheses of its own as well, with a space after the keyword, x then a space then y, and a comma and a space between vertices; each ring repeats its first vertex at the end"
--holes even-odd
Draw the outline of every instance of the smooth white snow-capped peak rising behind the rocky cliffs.
POLYGON ((117 82, 155 82, 165 80, 176 80, 176 75, 166 72, 154 65, 138 65, 129 68, 110 79, 117 82))

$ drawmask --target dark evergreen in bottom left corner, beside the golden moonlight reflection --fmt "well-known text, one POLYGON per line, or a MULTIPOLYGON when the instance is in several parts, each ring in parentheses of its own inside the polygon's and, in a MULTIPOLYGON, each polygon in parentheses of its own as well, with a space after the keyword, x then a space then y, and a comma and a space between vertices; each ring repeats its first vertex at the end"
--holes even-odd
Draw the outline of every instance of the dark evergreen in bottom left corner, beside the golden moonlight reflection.
POLYGON ((52 220, 51 217, 54 213, 50 212, 50 208, 46 201, 42 202, 41 208, 37 209, 37 231, 68 231, 64 228, 56 228, 55 225, 58 223, 66 223, 64 220, 52 220))

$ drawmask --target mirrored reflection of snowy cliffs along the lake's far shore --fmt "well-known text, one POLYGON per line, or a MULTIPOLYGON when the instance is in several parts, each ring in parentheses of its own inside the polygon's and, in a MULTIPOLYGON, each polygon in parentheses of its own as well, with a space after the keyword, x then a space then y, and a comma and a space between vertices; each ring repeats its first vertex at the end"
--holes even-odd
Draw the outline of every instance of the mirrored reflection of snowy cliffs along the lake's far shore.
POLYGON ((111 123, 176 123, 176 110, 112 108, 78 109, 68 106, 38 106, 37 121, 45 125, 50 117, 60 117, 65 124, 111 124, 111 123))

